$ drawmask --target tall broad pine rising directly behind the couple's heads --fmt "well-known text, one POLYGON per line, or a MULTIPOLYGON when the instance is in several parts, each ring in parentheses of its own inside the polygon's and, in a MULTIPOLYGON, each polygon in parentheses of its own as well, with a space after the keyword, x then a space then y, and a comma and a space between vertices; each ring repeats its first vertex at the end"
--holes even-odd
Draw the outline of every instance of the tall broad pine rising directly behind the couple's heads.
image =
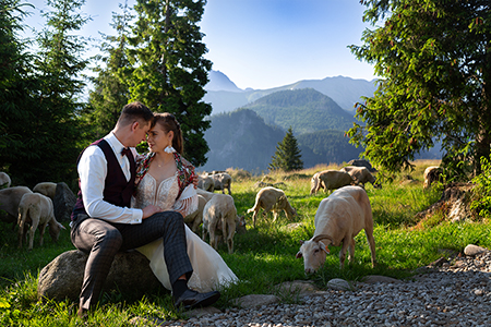
POLYGON ((180 122, 184 157, 196 167, 206 162, 204 131, 212 106, 202 101, 212 62, 197 23, 205 0, 137 0, 137 22, 131 44, 131 100, 157 112, 170 112, 180 122))

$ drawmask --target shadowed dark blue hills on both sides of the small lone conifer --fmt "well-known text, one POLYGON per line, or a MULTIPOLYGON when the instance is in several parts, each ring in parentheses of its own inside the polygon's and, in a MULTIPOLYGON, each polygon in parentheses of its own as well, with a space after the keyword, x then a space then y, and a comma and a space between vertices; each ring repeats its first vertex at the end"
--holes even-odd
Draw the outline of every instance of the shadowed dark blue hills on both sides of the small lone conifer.
MULTIPOLYGON (((211 117, 212 126, 205 132, 209 152, 207 162, 197 170, 240 168, 253 173, 267 171, 276 146, 286 132, 268 125, 250 109, 211 117)), ((349 161, 358 158, 361 149, 348 143, 340 131, 318 131, 296 136, 304 168, 318 164, 349 161)))

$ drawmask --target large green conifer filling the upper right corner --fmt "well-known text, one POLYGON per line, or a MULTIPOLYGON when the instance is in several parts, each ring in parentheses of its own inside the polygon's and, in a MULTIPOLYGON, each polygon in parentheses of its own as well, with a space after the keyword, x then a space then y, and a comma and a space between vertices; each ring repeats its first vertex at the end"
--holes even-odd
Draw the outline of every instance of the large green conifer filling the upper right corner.
POLYGON ((376 167, 398 171, 441 141, 443 164, 481 171, 491 149, 491 20, 488 0, 363 0, 374 29, 351 46, 381 76, 359 104, 351 142, 376 167), (379 23, 382 23, 379 25, 379 23))

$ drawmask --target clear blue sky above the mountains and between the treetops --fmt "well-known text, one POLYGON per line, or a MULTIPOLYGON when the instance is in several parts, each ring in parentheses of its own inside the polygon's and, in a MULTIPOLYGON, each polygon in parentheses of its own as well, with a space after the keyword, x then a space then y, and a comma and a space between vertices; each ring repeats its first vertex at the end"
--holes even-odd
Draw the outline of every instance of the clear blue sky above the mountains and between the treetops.
MULTIPOLYGON (((24 23, 43 28, 44 0, 24 23)), ((109 23, 122 0, 86 0, 92 20, 81 34, 113 34, 109 23)), ((130 5, 134 0, 129 0, 130 5)), ((347 48, 361 45, 364 7, 359 0, 208 0, 201 22, 213 70, 240 88, 264 89, 300 80, 349 76, 372 80, 373 68, 347 48)), ((93 55, 97 49, 89 51, 93 55)))

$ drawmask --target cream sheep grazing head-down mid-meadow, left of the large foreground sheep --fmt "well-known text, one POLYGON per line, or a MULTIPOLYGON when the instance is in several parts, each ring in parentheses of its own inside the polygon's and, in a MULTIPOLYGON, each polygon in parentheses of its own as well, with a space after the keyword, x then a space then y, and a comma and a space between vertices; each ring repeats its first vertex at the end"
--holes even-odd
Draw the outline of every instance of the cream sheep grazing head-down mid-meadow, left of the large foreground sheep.
POLYGON ((291 220, 292 217, 297 215, 297 210, 291 207, 290 203, 287 199, 287 196, 285 195, 285 192, 273 186, 261 189, 260 192, 258 192, 258 194, 255 195, 254 206, 248 210, 248 214, 254 213, 254 215, 252 216, 252 223, 254 228, 255 218, 258 217, 258 213, 261 208, 263 208, 263 217, 266 217, 267 211, 273 211, 273 222, 276 221, 276 218, 282 210, 285 211, 285 215, 289 220, 291 220))

